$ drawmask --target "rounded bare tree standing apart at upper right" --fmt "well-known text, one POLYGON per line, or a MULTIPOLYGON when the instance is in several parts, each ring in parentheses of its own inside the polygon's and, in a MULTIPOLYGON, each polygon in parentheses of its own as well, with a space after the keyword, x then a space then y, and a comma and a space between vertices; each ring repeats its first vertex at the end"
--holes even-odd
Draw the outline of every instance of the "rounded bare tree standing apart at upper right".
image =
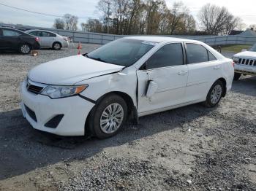
POLYGON ((198 20, 201 28, 211 35, 228 34, 238 26, 240 21, 226 7, 212 4, 206 4, 200 9, 198 20))

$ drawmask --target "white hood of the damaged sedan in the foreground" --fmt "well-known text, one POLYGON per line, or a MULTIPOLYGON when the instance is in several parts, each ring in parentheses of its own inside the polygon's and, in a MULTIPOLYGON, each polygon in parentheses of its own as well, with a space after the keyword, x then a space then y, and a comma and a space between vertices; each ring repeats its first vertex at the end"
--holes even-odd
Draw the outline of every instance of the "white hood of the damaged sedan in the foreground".
POLYGON ((124 69, 124 66, 75 55, 34 67, 29 72, 29 79, 50 85, 74 85, 76 82, 121 71, 121 69, 124 69))

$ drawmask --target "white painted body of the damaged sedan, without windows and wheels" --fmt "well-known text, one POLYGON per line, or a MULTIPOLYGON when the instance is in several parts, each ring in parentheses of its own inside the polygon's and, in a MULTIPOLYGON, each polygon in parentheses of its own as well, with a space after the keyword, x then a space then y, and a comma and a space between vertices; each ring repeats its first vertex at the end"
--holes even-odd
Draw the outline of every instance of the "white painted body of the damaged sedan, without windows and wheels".
POLYGON ((142 39, 157 44, 136 63, 126 68, 95 61, 83 55, 75 55, 43 63, 32 69, 29 72, 29 79, 32 82, 39 82, 43 85, 89 85, 89 87, 80 93, 81 96, 51 99, 46 95, 34 95, 28 92, 24 82, 21 87, 21 106, 26 104, 39 117, 39 122, 34 122, 25 111, 24 115, 31 125, 39 130, 58 135, 83 135, 86 118, 91 109, 99 98, 108 93, 127 95, 131 98, 140 117, 205 101, 211 85, 219 78, 225 79, 227 91, 231 88, 234 74, 233 61, 223 57, 202 42, 156 36, 127 38, 142 39), (140 70, 140 66, 154 52, 164 44, 173 42, 201 44, 210 50, 218 60, 146 71, 140 70), (157 90, 150 98, 147 98, 146 89, 150 80, 157 84, 157 90), (64 114, 64 119, 56 129, 44 126, 45 122, 54 114, 60 113, 64 114))

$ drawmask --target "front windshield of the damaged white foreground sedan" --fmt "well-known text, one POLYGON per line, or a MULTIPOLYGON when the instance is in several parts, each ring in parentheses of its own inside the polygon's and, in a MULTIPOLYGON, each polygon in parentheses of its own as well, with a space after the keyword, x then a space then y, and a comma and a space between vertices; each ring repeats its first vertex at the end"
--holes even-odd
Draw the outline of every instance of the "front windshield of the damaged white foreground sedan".
POLYGON ((106 63, 131 66, 151 50, 154 44, 135 39, 118 39, 90 52, 87 57, 106 63))

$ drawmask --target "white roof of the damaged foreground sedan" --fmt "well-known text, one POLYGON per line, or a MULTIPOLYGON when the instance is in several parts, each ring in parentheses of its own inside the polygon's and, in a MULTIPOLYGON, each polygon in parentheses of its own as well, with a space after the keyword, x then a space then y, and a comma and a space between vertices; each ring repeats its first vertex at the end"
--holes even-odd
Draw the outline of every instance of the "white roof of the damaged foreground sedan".
MULTIPOLYGON (((137 39, 143 41, 151 41, 151 42, 196 42, 199 41, 190 40, 190 39, 180 39, 168 36, 127 36, 125 39, 137 39)), ((200 42, 199 42, 200 43, 200 42)))

